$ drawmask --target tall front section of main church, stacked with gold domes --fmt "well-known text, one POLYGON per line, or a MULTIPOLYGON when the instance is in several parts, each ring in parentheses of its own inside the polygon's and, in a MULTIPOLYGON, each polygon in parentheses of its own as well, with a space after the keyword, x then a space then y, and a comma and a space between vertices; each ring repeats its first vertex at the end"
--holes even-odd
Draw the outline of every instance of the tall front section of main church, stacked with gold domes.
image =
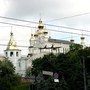
POLYGON ((31 34, 28 56, 30 56, 30 58, 36 58, 41 53, 40 48, 44 48, 47 42, 48 31, 46 30, 44 23, 40 19, 38 22, 37 30, 33 34, 31 34))

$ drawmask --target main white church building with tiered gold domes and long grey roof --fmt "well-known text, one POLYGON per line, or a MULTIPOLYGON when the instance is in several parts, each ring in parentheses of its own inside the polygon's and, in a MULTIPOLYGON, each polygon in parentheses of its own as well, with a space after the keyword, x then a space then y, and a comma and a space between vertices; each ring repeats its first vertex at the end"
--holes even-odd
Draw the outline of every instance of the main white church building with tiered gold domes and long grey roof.
POLYGON ((48 36, 42 20, 39 20, 37 31, 31 34, 29 54, 31 65, 32 60, 42 57, 48 53, 66 53, 69 51, 71 42, 65 40, 52 39, 48 36))

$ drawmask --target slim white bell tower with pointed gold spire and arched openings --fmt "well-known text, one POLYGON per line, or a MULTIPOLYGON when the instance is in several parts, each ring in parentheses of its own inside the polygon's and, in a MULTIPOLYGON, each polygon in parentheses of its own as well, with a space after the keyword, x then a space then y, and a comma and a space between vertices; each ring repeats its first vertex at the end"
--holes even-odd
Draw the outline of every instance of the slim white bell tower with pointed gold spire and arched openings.
POLYGON ((5 57, 13 63, 15 71, 18 73, 18 59, 21 57, 21 50, 17 48, 12 31, 10 32, 10 40, 4 53, 5 57))

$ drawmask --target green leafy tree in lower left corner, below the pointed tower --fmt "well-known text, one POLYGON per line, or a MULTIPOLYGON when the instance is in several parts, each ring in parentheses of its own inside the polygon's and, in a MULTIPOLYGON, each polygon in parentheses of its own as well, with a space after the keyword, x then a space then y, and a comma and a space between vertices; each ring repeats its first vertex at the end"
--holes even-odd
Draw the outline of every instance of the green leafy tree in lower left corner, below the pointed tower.
POLYGON ((12 90, 11 88, 20 84, 21 78, 15 74, 13 64, 5 59, 0 61, 0 90, 12 90))

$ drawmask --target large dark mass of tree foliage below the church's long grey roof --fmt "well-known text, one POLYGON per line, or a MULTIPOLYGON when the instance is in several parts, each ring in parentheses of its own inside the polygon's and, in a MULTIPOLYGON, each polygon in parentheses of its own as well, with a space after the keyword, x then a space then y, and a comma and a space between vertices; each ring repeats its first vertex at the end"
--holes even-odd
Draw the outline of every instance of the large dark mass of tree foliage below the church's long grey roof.
POLYGON ((74 44, 73 48, 66 54, 54 55, 51 53, 35 59, 31 72, 36 77, 42 71, 59 74, 59 83, 54 83, 54 78, 51 76, 48 76, 48 79, 44 77, 41 82, 37 82, 39 88, 37 90, 83 90, 83 57, 90 73, 90 47, 82 49, 81 45, 74 44))

